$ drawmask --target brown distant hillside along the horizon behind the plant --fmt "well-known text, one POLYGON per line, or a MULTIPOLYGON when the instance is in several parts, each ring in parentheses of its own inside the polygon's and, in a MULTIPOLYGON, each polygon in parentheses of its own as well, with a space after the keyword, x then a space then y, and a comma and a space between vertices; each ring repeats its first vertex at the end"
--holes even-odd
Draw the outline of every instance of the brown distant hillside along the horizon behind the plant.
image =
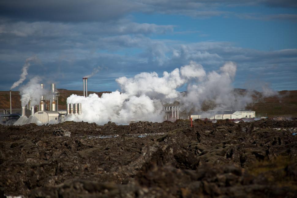
MULTIPOLYGON (((71 94, 83 95, 83 91, 58 89, 60 92, 59 97, 59 109, 66 109, 66 100, 71 94)), ((245 89, 235 89, 236 92, 244 93, 245 89)), ((88 94, 96 93, 101 97, 102 93, 111 92, 93 92, 88 91, 88 94)), ((255 100, 258 102, 251 106, 246 107, 248 110, 256 111, 256 116, 285 116, 285 117, 297 117, 297 90, 294 91, 279 91, 278 96, 266 97, 258 100, 261 95, 260 92, 255 92, 255 100)), ((186 92, 185 92, 186 94, 186 92)), ((12 108, 21 108, 20 95, 18 91, 12 91, 12 108)), ((9 109, 9 91, 0 91, 0 110, 9 109)))

